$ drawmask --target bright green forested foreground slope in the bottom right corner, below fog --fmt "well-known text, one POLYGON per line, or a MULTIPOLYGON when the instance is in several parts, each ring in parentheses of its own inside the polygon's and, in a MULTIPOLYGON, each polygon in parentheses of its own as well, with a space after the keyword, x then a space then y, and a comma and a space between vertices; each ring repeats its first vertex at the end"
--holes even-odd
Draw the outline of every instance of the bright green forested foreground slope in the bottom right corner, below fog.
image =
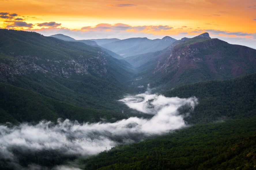
POLYGON ((81 160, 85 169, 256 169, 253 118, 194 125, 81 160))

